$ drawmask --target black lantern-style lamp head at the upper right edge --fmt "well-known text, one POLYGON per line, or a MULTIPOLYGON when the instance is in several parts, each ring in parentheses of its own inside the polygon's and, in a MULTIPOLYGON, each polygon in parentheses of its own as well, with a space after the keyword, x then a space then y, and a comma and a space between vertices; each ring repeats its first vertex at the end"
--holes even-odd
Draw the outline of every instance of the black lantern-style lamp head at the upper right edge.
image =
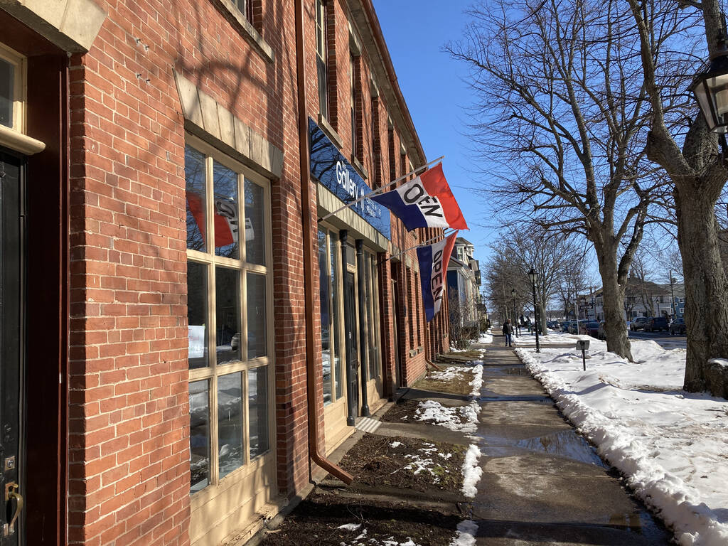
MULTIPOLYGON (((723 35, 719 39, 718 49, 711 55, 711 63, 705 71, 697 74, 688 88, 695 95, 703 112, 708 129, 725 135, 728 132, 728 36, 725 22, 723 35)), ((725 138, 721 138, 721 147, 726 148, 725 138)))

